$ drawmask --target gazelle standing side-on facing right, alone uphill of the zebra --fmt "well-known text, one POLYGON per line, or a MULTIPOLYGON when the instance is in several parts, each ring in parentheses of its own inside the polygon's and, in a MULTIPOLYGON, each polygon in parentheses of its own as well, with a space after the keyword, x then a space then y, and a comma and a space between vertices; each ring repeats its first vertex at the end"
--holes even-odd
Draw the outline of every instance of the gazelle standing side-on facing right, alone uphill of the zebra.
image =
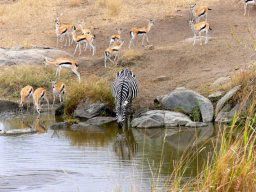
POLYGON ((148 42, 148 32, 150 31, 151 27, 154 25, 154 22, 152 20, 148 21, 148 25, 146 27, 134 27, 130 30, 130 44, 129 49, 131 48, 131 44, 134 44, 134 40, 137 38, 137 36, 142 36, 142 46, 144 46, 144 38, 146 37, 147 43, 148 42))

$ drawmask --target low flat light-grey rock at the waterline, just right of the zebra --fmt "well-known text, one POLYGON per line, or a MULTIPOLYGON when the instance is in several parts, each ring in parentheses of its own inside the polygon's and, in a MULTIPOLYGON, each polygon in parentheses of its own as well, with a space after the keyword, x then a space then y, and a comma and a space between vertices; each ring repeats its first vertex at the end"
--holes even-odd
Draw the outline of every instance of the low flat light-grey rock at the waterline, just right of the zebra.
POLYGON ((190 118, 179 112, 152 110, 144 113, 141 117, 132 120, 132 127, 177 127, 192 123, 190 118))

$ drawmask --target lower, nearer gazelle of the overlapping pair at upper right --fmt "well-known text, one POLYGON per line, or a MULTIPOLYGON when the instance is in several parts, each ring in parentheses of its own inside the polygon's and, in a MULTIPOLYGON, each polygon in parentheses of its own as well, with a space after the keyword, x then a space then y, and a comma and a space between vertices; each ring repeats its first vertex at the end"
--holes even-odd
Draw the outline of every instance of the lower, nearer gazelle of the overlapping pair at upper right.
POLYGON ((202 21, 200 23, 196 23, 194 24, 194 22, 192 20, 189 21, 189 25, 194 33, 194 43, 193 43, 193 46, 195 45, 196 43, 196 36, 197 34, 199 35, 200 37, 200 45, 202 45, 202 39, 201 39, 201 33, 202 32, 205 32, 205 42, 204 44, 207 44, 208 43, 208 31, 209 29, 211 29, 209 23, 207 23, 206 21, 202 21))

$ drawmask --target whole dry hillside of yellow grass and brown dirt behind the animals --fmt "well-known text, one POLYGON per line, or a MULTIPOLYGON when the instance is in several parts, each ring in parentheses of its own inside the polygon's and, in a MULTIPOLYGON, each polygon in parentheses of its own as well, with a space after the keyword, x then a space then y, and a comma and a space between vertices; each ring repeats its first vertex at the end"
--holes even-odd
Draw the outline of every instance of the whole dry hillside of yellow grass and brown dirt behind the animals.
MULTIPOLYGON (((63 13, 63 22, 77 23, 84 19, 86 26, 96 35, 97 52, 89 51, 78 59, 92 61, 92 67, 82 67, 82 77, 94 73, 112 75, 118 69, 112 64, 104 68, 103 51, 115 28, 123 28, 125 45, 122 54, 135 58, 132 70, 140 83, 140 97, 136 103, 152 103, 157 95, 166 94, 175 87, 208 90, 219 77, 234 74, 253 64, 255 49, 256 9, 243 16, 243 5, 236 0, 204 0, 208 5, 208 21, 213 29, 207 45, 193 47, 193 36, 188 26, 190 0, 16 0, 0 1, 1 47, 32 45, 56 47, 54 19, 63 13), (128 51, 129 30, 146 25, 153 19, 155 25, 149 33, 153 50, 140 46, 128 51), (165 81, 154 81, 166 76, 165 81)), ((65 48, 73 53, 74 46, 65 48)))

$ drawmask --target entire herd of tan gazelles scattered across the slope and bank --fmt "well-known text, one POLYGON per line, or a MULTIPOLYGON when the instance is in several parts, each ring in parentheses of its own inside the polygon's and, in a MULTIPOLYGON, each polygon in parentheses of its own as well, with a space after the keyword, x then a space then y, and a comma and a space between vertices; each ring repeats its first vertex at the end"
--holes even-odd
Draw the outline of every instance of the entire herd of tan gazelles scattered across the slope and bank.
MULTIPOLYGON (((242 0, 244 3, 244 15, 246 15, 247 6, 248 5, 256 5, 256 0, 242 0)), ((193 4, 190 6, 190 18, 189 18, 189 25, 191 30, 194 33, 194 42, 195 45, 197 35, 200 37, 200 44, 201 41, 201 33, 205 32, 205 44, 208 43, 208 31, 211 30, 211 27, 207 21, 208 11, 211 10, 207 6, 196 6, 193 4), (205 21, 200 21, 201 18, 205 18, 205 21)), ((132 45, 134 45, 134 41, 137 37, 142 37, 142 46, 144 46, 144 41, 146 38, 147 44, 149 43, 148 40, 148 33, 151 27, 154 25, 152 20, 148 20, 148 25, 144 27, 133 27, 130 29, 130 42, 129 42, 129 49, 132 45)), ((116 59, 120 56, 121 47, 124 44, 124 41, 121 38, 122 29, 116 29, 117 33, 113 34, 110 37, 109 47, 104 51, 104 66, 107 67, 107 61, 115 63, 116 59)), ((87 47, 90 47, 92 50, 92 54, 94 55, 96 52, 96 46, 94 44, 95 35, 92 34, 92 31, 88 28, 84 27, 84 21, 80 21, 78 26, 76 27, 72 23, 61 23, 60 22, 60 15, 57 15, 55 20, 55 32, 57 36, 57 46, 59 42, 63 42, 65 40, 65 45, 71 45, 73 42, 76 43, 75 50, 73 55, 76 54, 77 49, 79 48, 79 55, 81 55, 81 46, 83 46, 84 51, 87 47), (78 35, 78 33, 80 33, 78 35)), ((44 59, 45 65, 54 65, 57 67, 56 76, 60 76, 61 68, 70 68, 72 72, 77 76, 79 82, 81 80, 80 73, 78 71, 78 63, 75 59, 71 58, 57 58, 55 60, 49 60, 47 58, 44 59)), ((53 104, 55 103, 56 97, 59 97, 59 101, 64 101, 64 94, 65 84, 62 82, 52 81, 52 91, 53 91, 53 104)), ((39 87, 36 90, 32 86, 25 86, 20 91, 20 107, 23 107, 24 103, 27 102, 29 98, 33 98, 33 103, 35 106, 36 111, 40 114, 41 112, 41 100, 46 100, 49 108, 49 101, 46 94, 46 89, 43 87, 39 87)), ((27 104, 29 105, 29 103, 27 104)))

